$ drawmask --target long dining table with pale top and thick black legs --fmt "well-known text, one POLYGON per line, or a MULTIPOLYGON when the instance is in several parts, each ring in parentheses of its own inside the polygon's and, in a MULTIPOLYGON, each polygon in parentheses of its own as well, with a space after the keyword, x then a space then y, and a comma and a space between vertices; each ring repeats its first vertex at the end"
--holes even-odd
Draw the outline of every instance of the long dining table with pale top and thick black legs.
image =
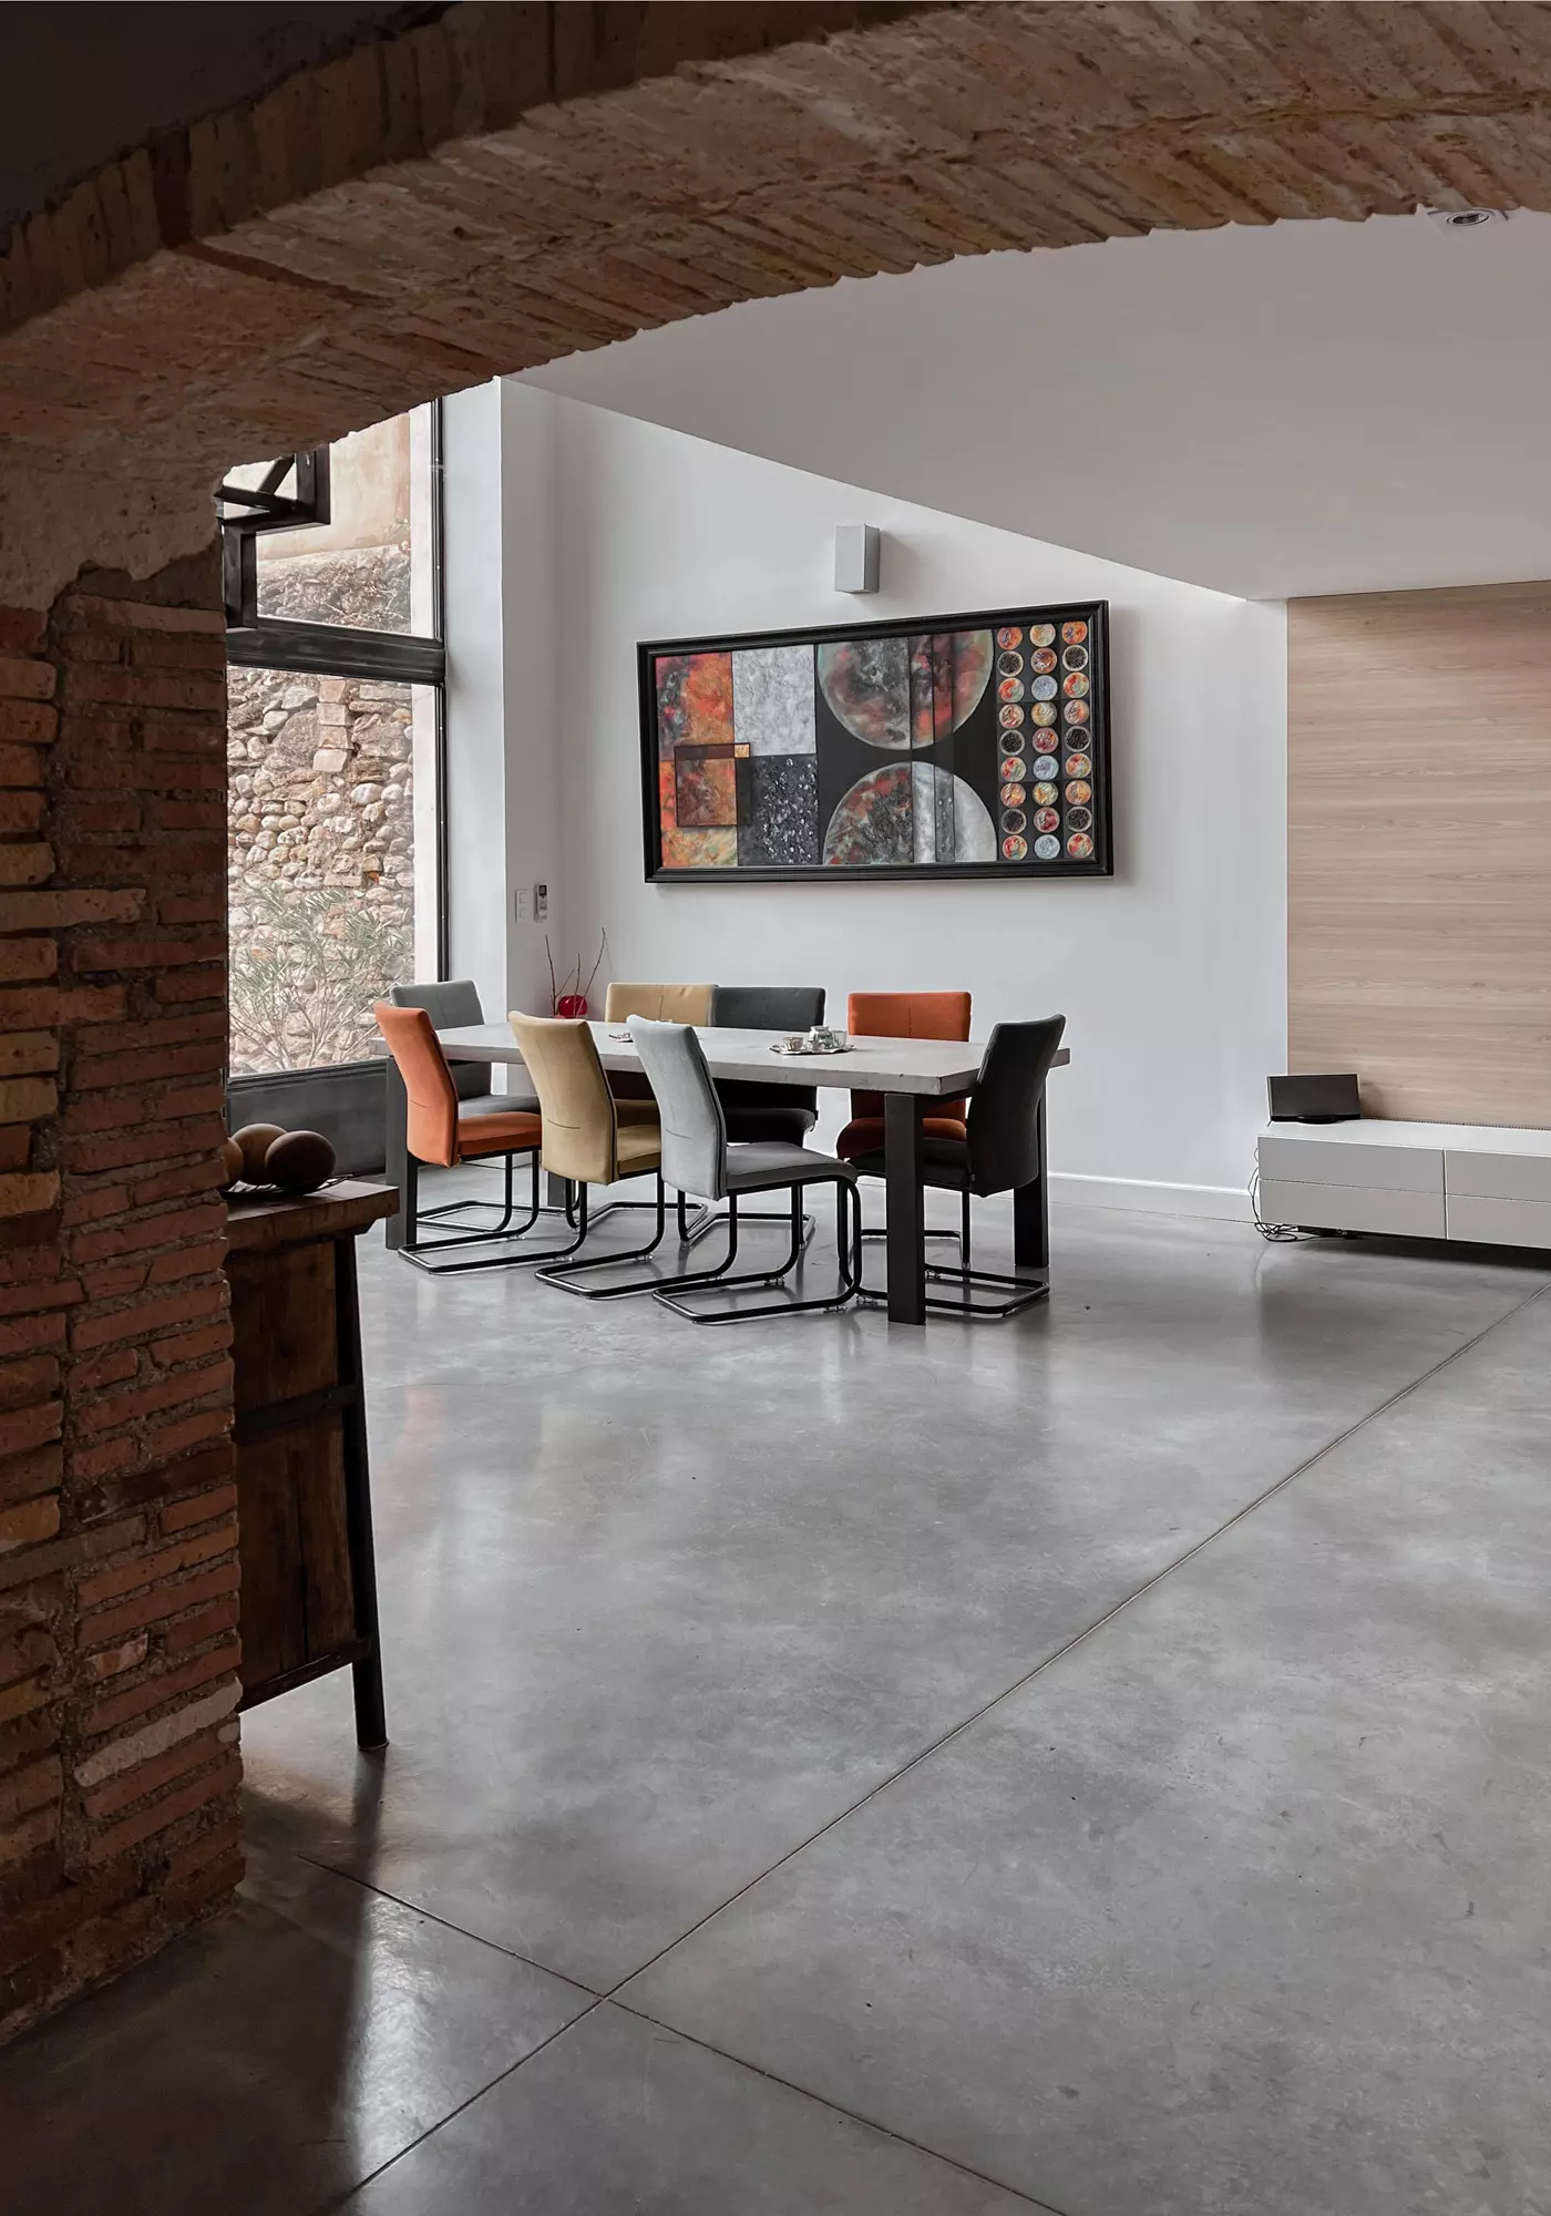
MULTIPOLYGON (((620 1024, 589 1024, 605 1070, 640 1073, 640 1055, 620 1024)), ((448 1061, 521 1066, 523 1053, 510 1024, 456 1024, 436 1033, 448 1061)), ((820 1090, 880 1092, 884 1101, 884 1197, 889 1228, 889 1321, 926 1323, 926 1132, 935 1101, 964 1099, 975 1090, 986 1055, 977 1039, 875 1039, 853 1037, 844 1053, 778 1053, 782 1033, 696 1026, 711 1077, 760 1079, 762 1084, 818 1086, 820 1090)), ((1059 1048, 1055 1064, 1068 1064, 1059 1048)), ((386 1172, 403 1188, 408 1168, 408 1099, 397 1061, 386 1068, 388 1132, 386 1172)), ((1013 1268, 1030 1281, 1050 1274, 1050 1190, 1046 1174, 1046 1101, 1037 1104, 1039 1174, 1013 1192, 1013 1268)), ((403 1214, 386 1225, 388 1245, 405 1239, 403 1214)))

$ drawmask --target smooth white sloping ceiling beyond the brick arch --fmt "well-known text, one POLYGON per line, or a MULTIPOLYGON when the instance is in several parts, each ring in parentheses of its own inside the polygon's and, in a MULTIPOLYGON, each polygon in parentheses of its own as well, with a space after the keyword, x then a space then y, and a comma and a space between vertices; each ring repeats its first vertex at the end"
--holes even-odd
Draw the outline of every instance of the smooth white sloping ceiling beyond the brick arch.
POLYGON ((1154 233, 756 301, 532 383, 1247 598, 1551 576, 1551 217, 1154 233))

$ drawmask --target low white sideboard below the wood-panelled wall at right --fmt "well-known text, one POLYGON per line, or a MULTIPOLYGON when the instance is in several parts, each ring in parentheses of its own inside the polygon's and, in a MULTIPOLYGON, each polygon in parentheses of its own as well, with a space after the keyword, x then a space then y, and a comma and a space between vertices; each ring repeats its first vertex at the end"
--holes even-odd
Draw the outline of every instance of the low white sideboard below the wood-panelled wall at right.
POLYGON ((1267 1124, 1256 1159, 1267 1223, 1551 1248, 1551 1130, 1267 1124))

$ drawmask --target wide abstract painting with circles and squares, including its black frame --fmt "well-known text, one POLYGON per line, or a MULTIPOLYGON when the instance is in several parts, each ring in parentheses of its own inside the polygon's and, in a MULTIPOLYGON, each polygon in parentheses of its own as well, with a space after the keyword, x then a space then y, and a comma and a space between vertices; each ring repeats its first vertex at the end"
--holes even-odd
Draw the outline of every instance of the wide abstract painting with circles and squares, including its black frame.
POLYGON ((636 649, 651 884, 1108 878, 1108 603, 636 649))

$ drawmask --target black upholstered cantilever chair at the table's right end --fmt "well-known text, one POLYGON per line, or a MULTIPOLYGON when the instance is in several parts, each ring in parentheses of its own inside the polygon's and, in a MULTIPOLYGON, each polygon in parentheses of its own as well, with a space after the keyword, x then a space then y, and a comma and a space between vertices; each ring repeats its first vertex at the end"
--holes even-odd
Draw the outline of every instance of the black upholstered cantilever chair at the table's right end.
MULTIPOLYGON (((1033 1186, 1039 1177, 1039 1150, 1044 1146, 1041 1101, 1046 1077, 1061 1046, 1066 1030, 1064 1015, 1048 1015, 1035 1024, 997 1024, 986 1044, 986 1059, 970 1092, 968 1119, 962 1139, 924 1141, 924 1179, 942 1192, 964 1197, 964 1268, 933 1263, 928 1281, 959 1285, 962 1299, 926 1296, 926 1307, 946 1316, 968 1316, 970 1321, 1004 1323, 1019 1310, 1044 1301, 1050 1292, 1046 1276, 1006 1276, 995 1270, 970 1268, 970 1197, 988 1199, 993 1192, 1015 1192, 1033 1186), (990 1285, 1010 1294, 1006 1301, 975 1301, 973 1287, 990 1285)), ((884 1177, 882 1155, 862 1155, 851 1168, 857 1177, 884 1177)), ((871 1287, 862 1287, 864 1299, 882 1299, 871 1287)))

